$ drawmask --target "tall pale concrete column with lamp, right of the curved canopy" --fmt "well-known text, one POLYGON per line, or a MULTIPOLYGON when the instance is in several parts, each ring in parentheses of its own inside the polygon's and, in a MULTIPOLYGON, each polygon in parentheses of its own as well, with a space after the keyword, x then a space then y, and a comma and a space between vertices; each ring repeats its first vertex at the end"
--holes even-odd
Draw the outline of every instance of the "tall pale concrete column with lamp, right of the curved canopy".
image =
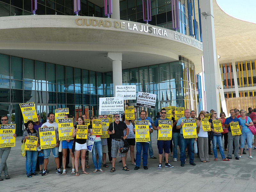
POLYGON ((207 111, 214 109, 218 114, 220 114, 220 100, 216 74, 216 71, 220 70, 220 67, 217 65, 216 57, 217 53, 215 46, 212 0, 200 1, 200 7, 204 54, 206 109, 207 111))

